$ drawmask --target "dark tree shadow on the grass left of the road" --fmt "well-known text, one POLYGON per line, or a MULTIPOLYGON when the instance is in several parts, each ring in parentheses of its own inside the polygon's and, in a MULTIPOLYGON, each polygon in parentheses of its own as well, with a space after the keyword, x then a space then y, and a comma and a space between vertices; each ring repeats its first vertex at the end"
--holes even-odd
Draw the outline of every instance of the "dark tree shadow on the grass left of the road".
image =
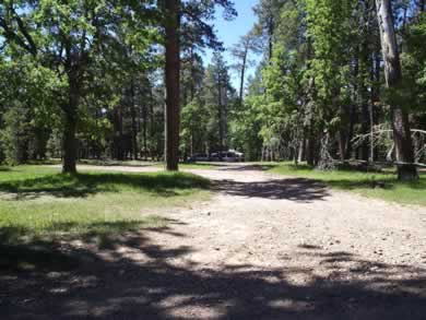
POLYGON ((159 195, 175 195, 175 189, 206 189, 209 181, 189 174, 106 174, 46 175, 37 178, 11 179, 0 182, 0 192, 16 199, 54 195, 60 198, 87 197, 99 192, 116 192, 120 188, 151 191, 159 195))

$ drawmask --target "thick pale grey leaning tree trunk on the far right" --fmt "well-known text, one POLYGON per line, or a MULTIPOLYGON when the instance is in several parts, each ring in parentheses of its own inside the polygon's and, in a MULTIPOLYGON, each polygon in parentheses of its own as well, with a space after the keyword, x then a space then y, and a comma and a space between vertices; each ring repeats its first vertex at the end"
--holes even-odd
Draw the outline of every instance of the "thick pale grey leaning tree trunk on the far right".
MULTIPOLYGON (((390 0, 376 0, 376 7, 384 60, 386 83, 389 88, 397 90, 402 81, 402 71, 390 0)), ((400 180, 418 179, 417 168, 413 164, 414 151, 409 114, 394 103, 391 103, 390 107, 397 150, 398 178, 400 180)))

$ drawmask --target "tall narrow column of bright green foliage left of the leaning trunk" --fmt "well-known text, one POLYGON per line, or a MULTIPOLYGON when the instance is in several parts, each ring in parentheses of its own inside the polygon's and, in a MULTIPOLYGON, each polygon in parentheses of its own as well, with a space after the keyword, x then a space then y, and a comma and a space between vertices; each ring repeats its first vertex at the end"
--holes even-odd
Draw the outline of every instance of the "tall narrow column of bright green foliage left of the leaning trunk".
POLYGON ((306 0, 307 36, 315 52, 307 76, 315 79, 317 117, 333 127, 338 108, 343 103, 348 76, 351 28, 348 20, 353 1, 306 0))

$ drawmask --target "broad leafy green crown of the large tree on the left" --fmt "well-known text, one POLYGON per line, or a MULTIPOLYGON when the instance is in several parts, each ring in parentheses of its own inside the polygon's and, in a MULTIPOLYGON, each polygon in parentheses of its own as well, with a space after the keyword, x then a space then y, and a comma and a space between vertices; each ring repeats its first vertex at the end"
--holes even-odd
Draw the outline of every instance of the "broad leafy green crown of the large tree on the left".
POLYGON ((68 130, 76 122, 81 137, 105 149, 111 127, 106 112, 119 103, 129 74, 158 64, 152 4, 3 1, 0 82, 7 81, 11 90, 0 105, 8 108, 17 102, 31 109, 32 122, 42 123, 37 129, 68 130))

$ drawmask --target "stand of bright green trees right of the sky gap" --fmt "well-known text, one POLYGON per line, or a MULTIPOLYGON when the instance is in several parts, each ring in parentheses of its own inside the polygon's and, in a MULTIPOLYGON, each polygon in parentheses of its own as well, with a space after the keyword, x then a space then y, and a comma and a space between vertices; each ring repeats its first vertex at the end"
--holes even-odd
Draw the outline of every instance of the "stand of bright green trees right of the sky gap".
MULTIPOLYGON (((366 137, 375 125, 389 122, 390 99, 416 109, 414 126, 424 127, 424 13, 415 1, 405 2, 394 8, 404 81, 387 91, 375 1, 259 1, 256 13, 270 50, 257 81, 259 93, 248 100, 269 153, 309 155, 312 164, 321 157, 375 157, 366 137), (363 142, 353 145, 360 135, 363 142)), ((382 141, 372 146, 388 147, 382 141)), ((423 144, 418 139, 416 147, 423 144)), ((384 153, 392 154, 389 149, 384 153)))

